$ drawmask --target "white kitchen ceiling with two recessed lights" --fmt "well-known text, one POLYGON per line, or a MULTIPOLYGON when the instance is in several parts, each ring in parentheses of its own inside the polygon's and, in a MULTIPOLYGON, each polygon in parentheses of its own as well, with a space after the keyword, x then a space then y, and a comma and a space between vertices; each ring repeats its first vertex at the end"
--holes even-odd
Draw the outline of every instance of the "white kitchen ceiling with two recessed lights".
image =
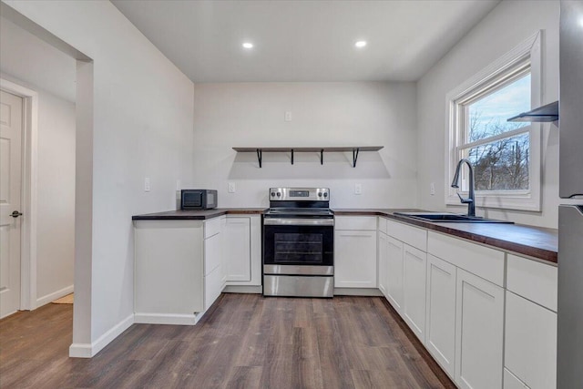
POLYGON ((414 81, 499 0, 112 3, 194 82, 414 81))

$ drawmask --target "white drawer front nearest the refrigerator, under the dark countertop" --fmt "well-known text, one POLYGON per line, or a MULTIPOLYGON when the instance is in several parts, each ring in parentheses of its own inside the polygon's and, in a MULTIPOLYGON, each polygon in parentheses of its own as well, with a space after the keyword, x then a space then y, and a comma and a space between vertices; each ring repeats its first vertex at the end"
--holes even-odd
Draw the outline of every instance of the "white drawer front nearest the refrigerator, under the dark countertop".
POLYGON ((508 254, 506 289, 557 312, 557 267, 508 254))

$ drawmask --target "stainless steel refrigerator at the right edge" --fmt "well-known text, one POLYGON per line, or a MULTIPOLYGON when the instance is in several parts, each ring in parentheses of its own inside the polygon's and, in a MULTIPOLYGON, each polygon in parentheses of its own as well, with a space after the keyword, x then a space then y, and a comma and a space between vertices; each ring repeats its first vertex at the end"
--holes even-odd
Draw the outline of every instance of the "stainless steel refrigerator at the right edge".
POLYGON ((560 3, 557 388, 583 388, 583 1, 560 3))

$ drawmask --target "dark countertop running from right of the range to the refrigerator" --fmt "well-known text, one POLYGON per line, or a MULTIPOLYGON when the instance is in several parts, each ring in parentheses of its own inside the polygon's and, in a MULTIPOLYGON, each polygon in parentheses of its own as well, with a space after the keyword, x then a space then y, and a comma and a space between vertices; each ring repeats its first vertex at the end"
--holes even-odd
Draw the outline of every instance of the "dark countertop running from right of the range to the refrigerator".
POLYGON ((444 232, 456 238, 476 241, 502 250, 557 263, 558 230, 555 229, 524 224, 430 222, 394 215, 394 212, 397 211, 422 210, 334 210, 334 215, 384 216, 388 219, 403 221, 427 230, 444 232))

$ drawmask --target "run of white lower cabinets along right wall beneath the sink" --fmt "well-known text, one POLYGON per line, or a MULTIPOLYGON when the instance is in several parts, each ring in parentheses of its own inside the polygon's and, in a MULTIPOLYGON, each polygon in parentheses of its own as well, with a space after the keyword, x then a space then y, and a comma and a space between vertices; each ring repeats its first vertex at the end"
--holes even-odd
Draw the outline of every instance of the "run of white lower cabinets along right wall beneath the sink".
POLYGON ((458 387, 557 387, 556 266, 392 220, 378 239, 379 289, 458 387))

